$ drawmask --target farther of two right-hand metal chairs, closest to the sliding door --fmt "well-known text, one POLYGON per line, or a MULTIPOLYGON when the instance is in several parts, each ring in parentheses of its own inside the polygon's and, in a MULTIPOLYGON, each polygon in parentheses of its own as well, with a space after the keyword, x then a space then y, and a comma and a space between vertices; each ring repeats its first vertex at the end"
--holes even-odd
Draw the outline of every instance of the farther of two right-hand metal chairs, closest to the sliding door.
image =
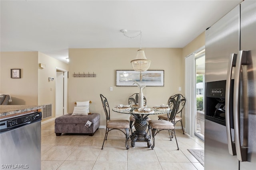
MULTIPOLYGON (((183 125, 182 125, 182 110, 186 104, 186 98, 182 96, 182 94, 175 94, 171 96, 168 100, 169 107, 173 107, 174 110, 177 112, 176 116, 173 119, 169 119, 174 124, 174 127, 178 121, 181 123, 182 132, 184 134, 183 125), (180 115, 177 115, 179 114, 180 115)), ((171 108, 172 109, 172 108, 171 108)), ((168 115, 158 115, 158 120, 168 120, 168 115)))

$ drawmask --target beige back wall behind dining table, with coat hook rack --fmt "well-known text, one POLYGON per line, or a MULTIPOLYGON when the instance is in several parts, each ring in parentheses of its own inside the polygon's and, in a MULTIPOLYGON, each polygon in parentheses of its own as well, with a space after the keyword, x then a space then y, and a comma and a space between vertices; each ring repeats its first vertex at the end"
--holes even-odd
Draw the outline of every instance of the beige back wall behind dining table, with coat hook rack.
MULTIPOLYGON (((100 94, 108 99, 112 108, 118 104, 128 104, 128 97, 139 92, 137 86, 116 86, 116 70, 132 70, 130 61, 135 59, 137 50, 69 49, 68 112, 72 113, 74 102, 91 100, 90 111, 100 113, 100 125, 106 125, 100 94), (94 72, 96 78, 73 77, 74 72, 94 72), (109 90, 110 87, 113 87, 113 91, 109 90)), ((164 87, 148 86, 143 90, 147 105, 166 104, 171 95, 183 93, 178 91, 178 87, 182 86, 182 49, 147 48, 144 51, 147 59, 151 60, 150 70, 164 70, 164 87)), ((128 119, 129 116, 112 111, 114 119, 128 119)))

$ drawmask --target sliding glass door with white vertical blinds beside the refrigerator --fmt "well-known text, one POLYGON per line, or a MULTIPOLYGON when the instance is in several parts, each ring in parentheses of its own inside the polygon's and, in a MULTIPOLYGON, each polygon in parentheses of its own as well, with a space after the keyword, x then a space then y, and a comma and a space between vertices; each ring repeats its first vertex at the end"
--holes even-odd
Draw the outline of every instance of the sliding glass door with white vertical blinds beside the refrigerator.
POLYGON ((204 141, 204 47, 185 58, 186 132, 204 141))

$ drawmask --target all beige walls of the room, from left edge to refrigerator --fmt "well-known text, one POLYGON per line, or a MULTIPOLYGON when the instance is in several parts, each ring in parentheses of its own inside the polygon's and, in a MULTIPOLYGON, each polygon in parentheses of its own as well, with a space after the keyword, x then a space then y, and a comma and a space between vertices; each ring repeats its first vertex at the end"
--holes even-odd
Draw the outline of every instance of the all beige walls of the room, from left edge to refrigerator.
MULTIPOLYGON (((146 57, 152 61, 150 70, 164 70, 164 87, 146 87, 143 90, 148 106, 166 104, 168 98, 176 93, 185 94, 184 57, 202 46, 204 46, 204 33, 183 49, 144 49, 146 57), (178 91, 179 86, 182 87, 182 91, 178 91)), ((105 125, 100 93, 108 99, 112 108, 117 104, 127 104, 128 96, 139 92, 136 86, 116 86, 116 70, 132 70, 130 61, 135 59, 137 50, 135 48, 69 49, 69 64, 40 52, 1 52, 0 93, 10 94, 13 98, 13 102, 10 103, 12 105, 52 103, 53 117, 55 117, 55 81, 49 82, 48 77, 55 78, 56 67, 69 70, 68 112, 72 113, 74 102, 91 100, 90 111, 100 113, 102 117, 100 125, 105 125), (46 64, 46 68, 40 68, 39 63, 46 64), (21 68, 22 78, 10 78, 11 68, 21 68), (81 74, 94 72, 96 78, 74 78, 74 72, 81 74), (110 87, 113 87, 112 92, 109 90, 110 87)), ((115 119, 129 117, 115 112, 112 114, 112 118, 115 119)), ((157 115, 151 117, 156 118, 157 115)))

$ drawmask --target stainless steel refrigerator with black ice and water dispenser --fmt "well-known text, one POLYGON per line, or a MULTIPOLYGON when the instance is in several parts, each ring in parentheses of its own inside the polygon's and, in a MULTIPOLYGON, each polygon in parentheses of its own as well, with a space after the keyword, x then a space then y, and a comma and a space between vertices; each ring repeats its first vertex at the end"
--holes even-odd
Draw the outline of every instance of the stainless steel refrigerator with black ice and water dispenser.
POLYGON ((205 170, 256 169, 256 1, 206 32, 205 170))

